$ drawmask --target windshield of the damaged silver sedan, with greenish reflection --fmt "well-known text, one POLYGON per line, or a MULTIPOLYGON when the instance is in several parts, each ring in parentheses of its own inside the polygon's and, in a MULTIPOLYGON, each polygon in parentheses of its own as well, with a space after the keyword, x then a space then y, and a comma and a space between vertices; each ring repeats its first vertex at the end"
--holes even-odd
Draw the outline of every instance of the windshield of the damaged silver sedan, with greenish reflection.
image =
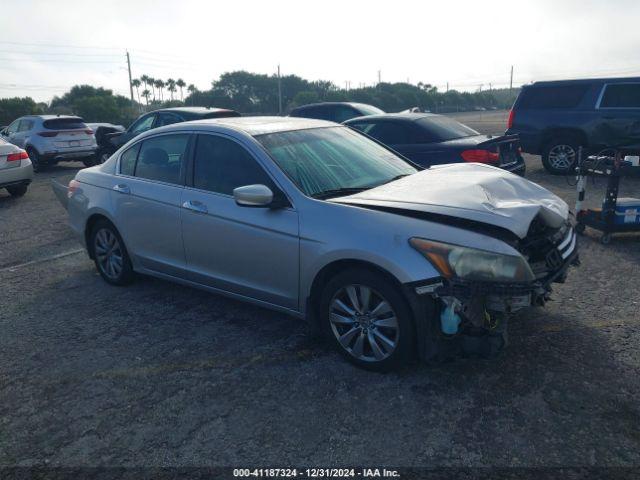
POLYGON ((308 196, 329 198, 367 190, 417 169, 346 127, 314 128, 256 137, 308 196))

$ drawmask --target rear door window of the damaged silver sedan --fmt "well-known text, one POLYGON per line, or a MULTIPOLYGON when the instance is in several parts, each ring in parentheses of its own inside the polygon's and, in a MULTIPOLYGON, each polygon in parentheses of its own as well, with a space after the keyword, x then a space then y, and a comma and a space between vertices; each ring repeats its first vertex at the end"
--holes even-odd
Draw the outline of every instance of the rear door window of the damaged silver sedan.
POLYGON ((147 180, 179 184, 188 143, 188 134, 162 135, 145 140, 140 147, 134 175, 147 180))

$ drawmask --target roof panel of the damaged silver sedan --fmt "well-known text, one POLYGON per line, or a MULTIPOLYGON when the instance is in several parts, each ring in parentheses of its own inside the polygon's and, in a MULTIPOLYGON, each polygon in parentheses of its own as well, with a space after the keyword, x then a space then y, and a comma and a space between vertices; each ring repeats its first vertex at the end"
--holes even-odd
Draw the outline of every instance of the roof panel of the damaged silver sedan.
POLYGON ((267 133, 288 132, 295 130, 306 130, 310 128, 340 127, 339 124, 327 120, 315 120, 311 118, 298 117, 224 117, 206 118, 202 120, 191 120, 189 122, 174 123, 160 128, 154 128, 142 135, 181 131, 181 130, 202 130, 210 131, 211 127, 218 127, 215 130, 229 129, 235 132, 243 132, 255 137, 267 133))

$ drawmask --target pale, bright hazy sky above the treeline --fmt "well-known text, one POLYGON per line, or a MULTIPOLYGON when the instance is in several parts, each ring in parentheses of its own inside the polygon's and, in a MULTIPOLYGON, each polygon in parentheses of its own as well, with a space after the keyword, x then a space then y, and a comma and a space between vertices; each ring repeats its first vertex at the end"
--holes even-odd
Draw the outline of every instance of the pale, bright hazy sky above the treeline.
POLYGON ((245 69, 444 89, 640 75, 640 2, 4 0, 0 97, 49 100, 76 83, 128 94, 134 77, 201 89, 245 69))

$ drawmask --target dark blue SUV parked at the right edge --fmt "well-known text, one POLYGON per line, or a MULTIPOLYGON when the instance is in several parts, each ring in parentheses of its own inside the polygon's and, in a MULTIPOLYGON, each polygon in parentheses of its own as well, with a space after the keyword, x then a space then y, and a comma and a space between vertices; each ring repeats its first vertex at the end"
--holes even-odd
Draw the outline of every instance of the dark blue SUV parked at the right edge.
POLYGON ((640 144, 640 77, 536 82, 522 87, 507 132, 542 155, 551 173, 567 174, 578 147, 588 153, 640 144))

